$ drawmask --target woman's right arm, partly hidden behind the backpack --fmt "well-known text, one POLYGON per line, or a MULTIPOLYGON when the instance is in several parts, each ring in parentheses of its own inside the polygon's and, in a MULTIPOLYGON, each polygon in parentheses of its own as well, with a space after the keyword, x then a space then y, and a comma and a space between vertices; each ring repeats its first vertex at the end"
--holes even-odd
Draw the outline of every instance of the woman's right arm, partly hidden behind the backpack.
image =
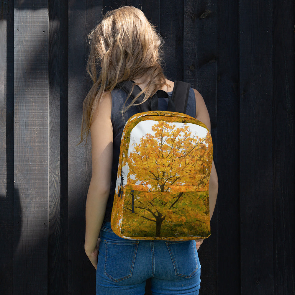
MULTIPOLYGON (((204 99, 199 93, 199 91, 197 91, 196 89, 194 89, 194 93, 196 96, 196 119, 204 123, 209 129, 209 131, 211 132, 210 117, 209 117, 209 113, 208 113, 206 104, 204 102, 204 99)), ((210 220, 214 212, 217 193, 218 193, 218 177, 217 177, 214 161, 212 161, 212 168, 211 168, 210 181, 209 181, 210 220)), ((202 242, 203 242, 203 239, 196 240, 197 250, 199 249, 202 242)))

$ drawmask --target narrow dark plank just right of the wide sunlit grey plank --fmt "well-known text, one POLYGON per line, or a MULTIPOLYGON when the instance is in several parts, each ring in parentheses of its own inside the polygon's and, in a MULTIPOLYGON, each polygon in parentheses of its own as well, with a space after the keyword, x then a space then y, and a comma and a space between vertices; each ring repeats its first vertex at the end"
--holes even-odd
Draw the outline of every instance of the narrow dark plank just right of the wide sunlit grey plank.
POLYGON ((68 5, 49 12, 48 293, 68 293, 68 5))

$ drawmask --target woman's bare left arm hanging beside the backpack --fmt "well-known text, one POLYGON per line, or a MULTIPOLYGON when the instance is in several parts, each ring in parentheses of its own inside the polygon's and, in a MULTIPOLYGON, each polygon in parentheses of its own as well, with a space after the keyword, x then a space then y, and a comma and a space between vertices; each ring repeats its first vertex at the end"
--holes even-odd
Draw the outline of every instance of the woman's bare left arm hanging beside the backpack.
POLYGON ((86 200, 85 252, 97 268, 98 236, 111 184, 113 160, 113 128, 111 122, 112 98, 104 94, 90 127, 92 175, 86 200))

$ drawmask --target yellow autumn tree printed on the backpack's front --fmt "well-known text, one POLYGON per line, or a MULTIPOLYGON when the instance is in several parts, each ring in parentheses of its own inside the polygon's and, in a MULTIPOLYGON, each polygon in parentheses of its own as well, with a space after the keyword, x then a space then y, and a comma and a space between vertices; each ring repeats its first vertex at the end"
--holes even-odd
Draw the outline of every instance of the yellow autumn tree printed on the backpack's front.
POLYGON ((133 190, 126 191, 122 232, 181 236, 206 232, 212 164, 209 131, 200 137, 189 124, 157 122, 128 155, 133 190), (132 210, 133 205, 133 210, 132 210), (151 233, 147 222, 154 224, 151 233), (136 224, 136 225, 135 225, 136 224))

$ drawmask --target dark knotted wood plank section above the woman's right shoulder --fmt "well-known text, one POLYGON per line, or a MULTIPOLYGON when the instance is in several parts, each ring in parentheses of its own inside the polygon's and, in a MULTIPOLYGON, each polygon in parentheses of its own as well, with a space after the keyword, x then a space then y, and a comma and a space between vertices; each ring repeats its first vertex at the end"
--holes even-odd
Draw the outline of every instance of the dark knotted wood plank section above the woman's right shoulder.
POLYGON ((205 99, 216 121, 217 2, 186 0, 184 6, 184 78, 205 99), (209 86, 209 81, 213 85, 209 86), (203 95, 204 94, 204 95, 203 95))

